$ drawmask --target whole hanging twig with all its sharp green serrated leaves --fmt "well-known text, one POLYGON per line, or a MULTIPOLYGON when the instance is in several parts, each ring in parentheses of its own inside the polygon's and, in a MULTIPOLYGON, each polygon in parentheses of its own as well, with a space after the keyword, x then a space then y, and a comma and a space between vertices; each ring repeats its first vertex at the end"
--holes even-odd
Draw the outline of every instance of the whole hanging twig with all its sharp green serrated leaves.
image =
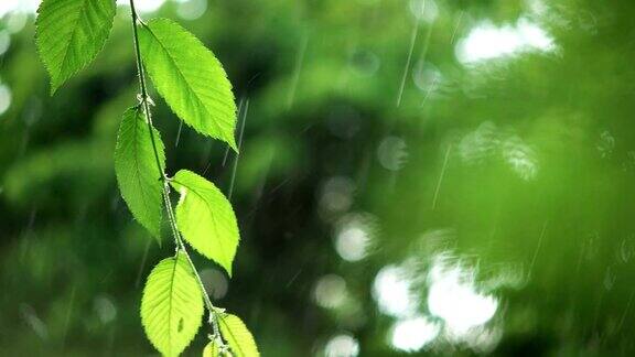
MULTIPOLYGON (((163 212, 174 237, 174 257, 159 262, 148 277, 141 321, 154 347, 180 355, 201 327, 205 305, 213 327, 204 356, 258 356, 254 338, 237 316, 212 305, 183 241, 232 275, 239 240, 229 201, 204 177, 187 170, 165 174, 164 144, 153 128, 144 73, 186 125, 225 141, 236 152, 236 105, 220 63, 193 34, 166 19, 142 22, 130 1, 138 56, 140 102, 122 117, 115 171, 133 217, 159 241, 163 212), (175 213, 171 187, 179 192, 175 213), (204 305, 205 303, 205 305, 204 305)), ((54 94, 86 67, 107 41, 115 0, 44 0, 37 11, 36 44, 54 94)))

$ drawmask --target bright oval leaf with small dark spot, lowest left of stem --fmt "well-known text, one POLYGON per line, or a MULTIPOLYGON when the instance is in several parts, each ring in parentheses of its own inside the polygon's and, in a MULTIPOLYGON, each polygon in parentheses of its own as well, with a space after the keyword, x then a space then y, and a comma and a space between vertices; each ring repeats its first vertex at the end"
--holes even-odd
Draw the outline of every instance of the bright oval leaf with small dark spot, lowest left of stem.
POLYGON ((203 317, 203 295, 187 258, 180 252, 152 269, 141 299, 141 322, 152 345, 177 356, 192 342, 203 317))

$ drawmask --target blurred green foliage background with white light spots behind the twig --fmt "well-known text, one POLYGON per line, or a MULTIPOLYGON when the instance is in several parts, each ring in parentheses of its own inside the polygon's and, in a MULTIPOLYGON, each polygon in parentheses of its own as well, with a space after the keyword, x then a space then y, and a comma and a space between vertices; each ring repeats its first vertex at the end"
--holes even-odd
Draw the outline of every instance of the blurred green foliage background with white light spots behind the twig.
MULTIPOLYGON (((634 1, 138 2, 239 100, 235 166, 153 96, 169 173, 234 187, 234 278, 195 262, 263 356, 633 355, 634 1)), ((152 355, 141 290, 173 244, 115 182, 129 8, 54 97, 33 20, 0 22, 0 355, 152 355)))

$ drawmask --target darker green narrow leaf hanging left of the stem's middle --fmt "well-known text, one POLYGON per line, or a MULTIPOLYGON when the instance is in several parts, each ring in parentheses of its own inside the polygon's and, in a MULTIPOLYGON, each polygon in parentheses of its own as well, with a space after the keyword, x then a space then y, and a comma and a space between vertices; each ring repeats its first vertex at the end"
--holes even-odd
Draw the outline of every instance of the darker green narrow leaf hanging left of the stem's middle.
MULTIPOLYGON (((159 131, 154 128, 152 131, 162 172, 165 166, 164 147, 159 131)), ((160 240, 163 183, 159 181, 150 129, 141 107, 130 108, 123 113, 115 148, 115 173, 132 216, 160 240)))

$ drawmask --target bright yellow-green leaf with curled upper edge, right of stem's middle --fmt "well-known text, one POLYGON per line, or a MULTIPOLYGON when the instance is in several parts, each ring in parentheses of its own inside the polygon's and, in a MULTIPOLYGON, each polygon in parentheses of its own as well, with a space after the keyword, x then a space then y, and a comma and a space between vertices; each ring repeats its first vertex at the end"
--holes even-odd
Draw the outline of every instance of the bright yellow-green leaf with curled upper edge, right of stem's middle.
POLYGON ((181 193, 176 206, 179 230, 194 249, 232 275, 239 239, 232 204, 213 183, 191 171, 179 171, 170 183, 181 193))

